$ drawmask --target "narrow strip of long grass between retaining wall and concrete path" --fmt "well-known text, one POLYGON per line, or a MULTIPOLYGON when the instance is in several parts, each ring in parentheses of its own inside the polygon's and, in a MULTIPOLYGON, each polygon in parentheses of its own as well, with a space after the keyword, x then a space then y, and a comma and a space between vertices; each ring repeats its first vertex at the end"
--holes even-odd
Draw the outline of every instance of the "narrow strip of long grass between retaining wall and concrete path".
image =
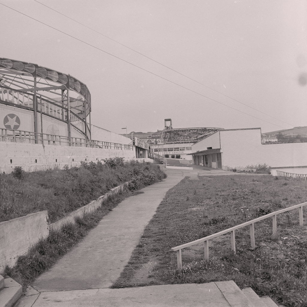
POLYGON ((5 274, 19 282, 25 289, 37 276, 48 270, 59 258, 72 249, 87 232, 124 198, 138 194, 125 190, 104 202, 96 211, 67 223, 60 230, 52 230, 49 236, 34 244, 27 254, 19 256, 14 267, 6 267, 5 274))

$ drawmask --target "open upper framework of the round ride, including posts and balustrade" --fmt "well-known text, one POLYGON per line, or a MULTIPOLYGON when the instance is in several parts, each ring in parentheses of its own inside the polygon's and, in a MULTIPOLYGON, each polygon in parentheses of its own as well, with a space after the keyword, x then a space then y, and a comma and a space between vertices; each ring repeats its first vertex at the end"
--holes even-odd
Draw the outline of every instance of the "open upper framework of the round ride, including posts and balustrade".
MULTIPOLYGON (((91 139, 91 94, 87 86, 62 72, 37 64, 0 58, 0 103, 32 110, 34 133, 39 114, 67 123, 91 139)), ((35 140, 38 142, 38 139, 35 140)))

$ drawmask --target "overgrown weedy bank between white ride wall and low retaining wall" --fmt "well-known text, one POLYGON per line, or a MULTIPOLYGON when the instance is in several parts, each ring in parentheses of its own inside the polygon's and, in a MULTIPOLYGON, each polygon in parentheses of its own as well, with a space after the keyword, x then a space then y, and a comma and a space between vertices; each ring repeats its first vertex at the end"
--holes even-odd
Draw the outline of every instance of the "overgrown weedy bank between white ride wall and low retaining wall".
POLYGON ((126 181, 132 181, 133 190, 163 178, 158 165, 119 157, 104 165, 90 162, 32 173, 17 167, 12 174, 0 174, 0 222, 42 210, 48 210, 53 222, 126 181))

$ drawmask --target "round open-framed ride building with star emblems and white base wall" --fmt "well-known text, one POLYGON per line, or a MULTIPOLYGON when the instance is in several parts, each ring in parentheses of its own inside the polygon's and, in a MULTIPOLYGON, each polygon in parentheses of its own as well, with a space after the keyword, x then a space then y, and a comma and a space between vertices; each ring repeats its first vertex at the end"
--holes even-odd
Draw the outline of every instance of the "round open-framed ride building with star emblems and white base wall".
MULTIPOLYGON (((75 77, 0 58, 0 171, 147 159, 148 145, 91 124, 91 94, 75 77)), ((150 159, 150 161, 154 159, 150 159)))

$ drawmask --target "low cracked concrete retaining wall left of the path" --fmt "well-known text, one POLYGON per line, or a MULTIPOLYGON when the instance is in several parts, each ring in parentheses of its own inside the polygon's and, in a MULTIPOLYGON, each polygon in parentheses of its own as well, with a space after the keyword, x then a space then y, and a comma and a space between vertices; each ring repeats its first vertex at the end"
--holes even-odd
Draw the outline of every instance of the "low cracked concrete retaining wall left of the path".
POLYGON ((0 223, 0 274, 4 272, 5 266, 14 266, 18 256, 27 253, 29 247, 41 238, 49 235, 50 229, 58 229, 63 224, 75 222, 75 217, 83 216, 99 208, 110 196, 123 191, 128 182, 123 183, 110 192, 91 201, 89 204, 68 214, 63 219, 52 224, 48 221, 48 211, 41 211, 17 217, 15 219, 0 223))

